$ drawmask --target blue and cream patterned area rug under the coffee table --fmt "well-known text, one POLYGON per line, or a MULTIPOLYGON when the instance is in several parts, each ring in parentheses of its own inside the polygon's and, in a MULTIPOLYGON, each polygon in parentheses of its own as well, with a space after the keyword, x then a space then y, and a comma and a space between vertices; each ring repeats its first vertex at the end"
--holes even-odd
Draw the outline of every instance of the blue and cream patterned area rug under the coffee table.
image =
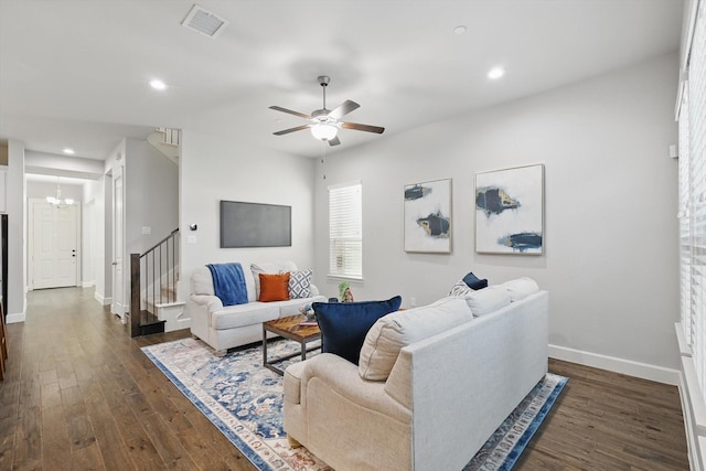
MULTIPOLYGON (((298 349, 296 342, 270 341, 268 357, 286 356, 298 349)), ((258 470, 331 470, 306 448, 289 447, 282 429, 282 378, 263 367, 261 346, 216 357, 205 343, 182 339, 142 351, 258 470)), ((297 358, 277 366, 286 367, 297 358)), ((567 381, 547 374, 464 471, 510 470, 567 381)))

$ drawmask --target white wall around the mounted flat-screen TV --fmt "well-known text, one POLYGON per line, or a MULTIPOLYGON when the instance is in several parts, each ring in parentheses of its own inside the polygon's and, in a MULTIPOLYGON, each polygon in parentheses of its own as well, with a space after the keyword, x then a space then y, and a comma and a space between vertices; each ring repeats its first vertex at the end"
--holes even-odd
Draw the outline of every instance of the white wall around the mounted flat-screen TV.
MULTIPOLYGON (((313 266, 312 197, 314 162, 266 149, 243 147, 185 129, 180 158, 180 229, 182 247, 181 299, 186 299, 194 268, 212 263, 293 260, 313 266), (291 206, 291 247, 220 248, 221 200, 291 206), (197 224, 197 231, 189 225, 197 224), (193 238, 190 243, 190 238, 193 238)), ((314 274, 314 282, 321 279, 314 274)))

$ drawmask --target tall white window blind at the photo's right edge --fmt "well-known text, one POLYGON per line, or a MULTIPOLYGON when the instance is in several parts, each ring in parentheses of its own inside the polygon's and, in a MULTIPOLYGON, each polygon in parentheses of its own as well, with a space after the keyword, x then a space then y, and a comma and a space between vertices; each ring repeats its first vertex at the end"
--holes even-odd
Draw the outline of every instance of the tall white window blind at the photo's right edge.
POLYGON ((680 108, 681 318, 706 396, 706 2, 700 2, 680 108))

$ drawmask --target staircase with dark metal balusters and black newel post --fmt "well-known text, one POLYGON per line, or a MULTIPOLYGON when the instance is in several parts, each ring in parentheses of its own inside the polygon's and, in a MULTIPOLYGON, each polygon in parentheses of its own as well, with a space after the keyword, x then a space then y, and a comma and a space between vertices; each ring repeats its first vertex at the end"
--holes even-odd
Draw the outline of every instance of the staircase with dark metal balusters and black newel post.
POLYGON ((184 303, 176 301, 179 278, 178 228, 145 254, 130 254, 131 336, 181 328, 184 303))

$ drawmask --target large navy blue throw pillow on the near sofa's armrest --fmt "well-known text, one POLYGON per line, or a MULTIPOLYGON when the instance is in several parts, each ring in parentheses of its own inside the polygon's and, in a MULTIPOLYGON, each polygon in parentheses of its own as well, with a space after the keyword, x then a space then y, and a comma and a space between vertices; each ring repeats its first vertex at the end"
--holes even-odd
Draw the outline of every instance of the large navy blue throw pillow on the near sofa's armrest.
POLYGON ((379 318, 397 311, 399 304, 399 296, 387 301, 313 302, 321 329, 321 351, 357 365, 367 331, 379 318))

